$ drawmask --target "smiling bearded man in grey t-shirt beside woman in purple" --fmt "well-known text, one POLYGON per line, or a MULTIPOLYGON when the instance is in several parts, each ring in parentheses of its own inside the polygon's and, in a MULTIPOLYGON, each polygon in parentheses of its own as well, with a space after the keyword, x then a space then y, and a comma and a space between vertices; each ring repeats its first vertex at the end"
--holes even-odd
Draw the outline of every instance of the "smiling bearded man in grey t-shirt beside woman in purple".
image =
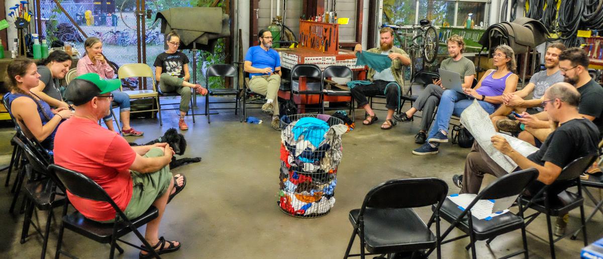
POLYGON ((519 133, 519 122, 517 120, 507 119, 511 112, 536 114, 543 111, 540 103, 543 101, 545 90, 555 83, 563 82, 563 75, 559 70, 559 55, 566 49, 565 45, 555 42, 546 49, 545 67, 546 70, 532 75, 529 84, 514 93, 502 96, 502 105, 490 114, 490 119, 496 131, 502 130, 510 133, 519 133), (524 100, 526 96, 532 93, 531 100, 524 100))

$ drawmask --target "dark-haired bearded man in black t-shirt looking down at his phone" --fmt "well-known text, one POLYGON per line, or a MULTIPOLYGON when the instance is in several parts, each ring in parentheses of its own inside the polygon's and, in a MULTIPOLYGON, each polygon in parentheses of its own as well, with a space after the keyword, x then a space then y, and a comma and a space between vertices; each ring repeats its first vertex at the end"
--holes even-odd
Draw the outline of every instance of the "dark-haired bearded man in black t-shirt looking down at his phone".
MULTIPOLYGON (((578 106, 580 116, 595 123, 599 133, 603 128, 603 87, 589 75, 589 56, 579 48, 569 48, 559 55, 559 69, 564 81, 576 87, 582 98, 578 106)), ((544 102, 543 102, 544 103, 544 102)), ((519 133, 519 139, 539 147, 554 130, 551 127, 546 111, 530 115, 521 114, 517 118, 523 123, 525 131, 519 133)))

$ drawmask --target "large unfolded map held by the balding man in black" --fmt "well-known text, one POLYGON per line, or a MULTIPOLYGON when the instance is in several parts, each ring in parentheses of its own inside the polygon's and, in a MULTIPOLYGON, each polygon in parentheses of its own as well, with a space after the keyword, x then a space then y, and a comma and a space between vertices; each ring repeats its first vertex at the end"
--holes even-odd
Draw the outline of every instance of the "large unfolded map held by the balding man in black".
POLYGON ((494 160, 500 167, 505 169, 507 172, 512 172, 517 164, 511 160, 507 155, 502 154, 498 149, 494 148, 491 137, 494 134, 504 136, 505 139, 510 143, 511 147, 516 149, 520 154, 527 156, 537 151, 538 149, 527 142, 524 142, 515 137, 508 136, 506 134, 497 133, 494 130, 494 125, 490 120, 490 115, 482 108, 477 100, 473 101, 473 104, 469 105, 463 113, 461 113, 461 123, 469 130, 478 145, 484 149, 486 154, 494 160))

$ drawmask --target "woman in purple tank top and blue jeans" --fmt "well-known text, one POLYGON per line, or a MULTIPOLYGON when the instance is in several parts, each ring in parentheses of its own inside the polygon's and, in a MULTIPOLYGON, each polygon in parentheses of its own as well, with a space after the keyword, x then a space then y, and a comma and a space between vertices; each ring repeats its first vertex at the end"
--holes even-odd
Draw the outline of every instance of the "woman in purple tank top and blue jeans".
POLYGON ((474 99, 477 99, 479 105, 491 114, 502 104, 503 93, 515 92, 519 76, 513 73, 516 68, 513 49, 507 45, 497 46, 492 59, 496 69, 488 70, 473 89, 464 89, 466 95, 454 90, 444 91, 440 98, 435 123, 429 131, 428 142, 412 151, 412 154, 437 154, 440 143, 448 142, 450 116, 461 116, 474 99))

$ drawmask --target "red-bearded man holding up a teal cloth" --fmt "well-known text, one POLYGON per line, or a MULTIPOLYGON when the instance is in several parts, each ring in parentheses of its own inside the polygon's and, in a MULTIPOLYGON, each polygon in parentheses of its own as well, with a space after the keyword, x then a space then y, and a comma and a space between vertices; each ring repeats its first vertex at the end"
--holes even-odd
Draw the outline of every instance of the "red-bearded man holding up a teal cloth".
MULTIPOLYGON (((353 98, 358 103, 358 108, 363 108, 368 116, 362 122, 364 125, 371 125, 377 121, 373 109, 368 104, 367 97, 384 95, 385 93, 385 108, 387 108, 387 117, 385 122, 381 125, 382 130, 390 130, 394 126, 392 117, 394 111, 398 108, 400 102, 400 89, 399 86, 403 86, 403 68, 411 64, 408 54, 400 48, 394 46, 394 30, 390 27, 384 27, 379 31, 380 46, 379 48, 368 49, 367 52, 373 54, 387 55, 391 58, 391 67, 388 67, 381 72, 377 72, 372 68, 368 68, 367 80, 370 84, 363 84, 360 86, 353 87, 350 92, 353 98), (397 83, 391 84, 391 83, 397 83), (387 89, 386 89, 387 88, 387 89)), ((354 52, 362 52, 362 45, 357 44, 354 48, 354 52)))

